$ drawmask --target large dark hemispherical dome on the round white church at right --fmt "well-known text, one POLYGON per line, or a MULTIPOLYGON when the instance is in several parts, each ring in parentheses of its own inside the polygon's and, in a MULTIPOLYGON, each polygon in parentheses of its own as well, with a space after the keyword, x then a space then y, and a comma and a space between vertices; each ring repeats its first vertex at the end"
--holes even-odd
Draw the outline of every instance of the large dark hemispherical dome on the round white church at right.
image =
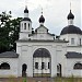
POLYGON ((60 35, 65 34, 82 34, 81 30, 74 25, 68 25, 62 28, 60 35))

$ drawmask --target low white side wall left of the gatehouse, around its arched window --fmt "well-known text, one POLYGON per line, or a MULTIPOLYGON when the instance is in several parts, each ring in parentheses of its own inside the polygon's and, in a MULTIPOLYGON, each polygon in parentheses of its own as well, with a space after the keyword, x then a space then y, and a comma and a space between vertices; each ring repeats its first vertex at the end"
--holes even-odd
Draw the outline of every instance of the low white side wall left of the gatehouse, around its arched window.
POLYGON ((7 62, 10 70, 0 69, 0 78, 17 77, 17 58, 0 58, 0 65, 7 62))

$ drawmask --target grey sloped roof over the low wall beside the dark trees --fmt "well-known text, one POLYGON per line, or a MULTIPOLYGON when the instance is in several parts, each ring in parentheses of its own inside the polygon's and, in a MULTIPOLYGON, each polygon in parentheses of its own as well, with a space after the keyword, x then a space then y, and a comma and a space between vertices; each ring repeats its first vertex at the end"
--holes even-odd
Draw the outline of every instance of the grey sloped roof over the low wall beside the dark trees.
POLYGON ((5 51, 0 54, 0 58, 19 58, 15 51, 5 51))

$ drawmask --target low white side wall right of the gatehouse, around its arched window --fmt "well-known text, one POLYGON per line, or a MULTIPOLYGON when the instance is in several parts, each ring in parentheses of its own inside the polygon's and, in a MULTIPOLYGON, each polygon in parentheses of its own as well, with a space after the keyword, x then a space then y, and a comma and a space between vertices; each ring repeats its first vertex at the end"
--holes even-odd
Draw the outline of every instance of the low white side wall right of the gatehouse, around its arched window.
POLYGON ((77 62, 82 63, 82 59, 67 59, 67 67, 66 67, 66 73, 65 77, 82 77, 82 70, 80 69, 73 69, 74 65, 77 62))

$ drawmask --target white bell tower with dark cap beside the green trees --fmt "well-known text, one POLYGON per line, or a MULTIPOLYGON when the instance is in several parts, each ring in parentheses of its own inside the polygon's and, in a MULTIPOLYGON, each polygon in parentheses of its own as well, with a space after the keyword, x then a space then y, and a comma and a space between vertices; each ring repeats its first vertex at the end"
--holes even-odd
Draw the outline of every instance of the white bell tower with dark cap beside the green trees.
POLYGON ((24 17, 20 24, 20 38, 19 39, 28 39, 30 34, 32 34, 32 21, 28 17, 28 9, 26 5, 24 10, 24 17))

